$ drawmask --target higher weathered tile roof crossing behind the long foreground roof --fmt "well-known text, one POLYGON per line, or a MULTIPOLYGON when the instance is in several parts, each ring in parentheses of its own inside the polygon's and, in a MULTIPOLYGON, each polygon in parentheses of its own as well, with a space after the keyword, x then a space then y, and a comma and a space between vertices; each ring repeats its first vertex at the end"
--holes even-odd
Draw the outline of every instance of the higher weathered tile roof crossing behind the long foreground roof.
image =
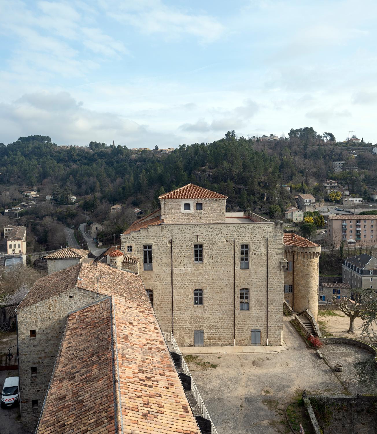
POLYGON ((134 299, 145 292, 141 277, 136 274, 125 273, 99 262, 80 262, 38 279, 20 302, 17 311, 66 292, 75 286, 97 293, 97 277, 100 277, 99 293, 105 296, 113 295, 134 299))

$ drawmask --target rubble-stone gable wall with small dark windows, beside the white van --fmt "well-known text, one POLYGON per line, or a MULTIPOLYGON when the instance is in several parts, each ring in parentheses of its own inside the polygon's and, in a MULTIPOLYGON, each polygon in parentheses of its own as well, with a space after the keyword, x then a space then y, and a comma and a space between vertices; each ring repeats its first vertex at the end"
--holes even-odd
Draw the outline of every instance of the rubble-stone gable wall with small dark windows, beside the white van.
POLYGON ((21 420, 31 429, 42 410, 68 313, 96 298, 97 294, 75 287, 17 312, 20 398, 27 401, 21 404, 21 420), (30 330, 36 330, 35 338, 30 338, 30 330), (35 376, 31 375, 32 367, 37 368, 35 376), (38 400, 35 408, 32 400, 38 400))

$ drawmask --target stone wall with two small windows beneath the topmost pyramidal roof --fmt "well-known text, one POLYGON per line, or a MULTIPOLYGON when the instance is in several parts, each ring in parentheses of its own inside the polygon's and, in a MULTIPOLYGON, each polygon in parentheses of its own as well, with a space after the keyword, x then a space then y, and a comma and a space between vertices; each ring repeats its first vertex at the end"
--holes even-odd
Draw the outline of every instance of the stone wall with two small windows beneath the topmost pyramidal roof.
POLYGON ((161 219, 165 223, 225 223, 225 199, 162 199, 161 219), (182 212, 182 204, 191 204, 190 212, 182 212), (197 210, 196 204, 203 204, 197 210))

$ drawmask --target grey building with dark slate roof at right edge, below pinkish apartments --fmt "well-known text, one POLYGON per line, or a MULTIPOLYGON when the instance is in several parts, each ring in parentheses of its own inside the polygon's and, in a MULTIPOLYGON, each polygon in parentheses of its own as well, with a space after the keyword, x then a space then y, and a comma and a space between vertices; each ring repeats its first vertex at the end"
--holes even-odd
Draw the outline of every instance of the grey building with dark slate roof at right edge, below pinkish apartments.
POLYGON ((342 278, 352 288, 377 289, 377 259, 362 253, 343 260, 342 278))

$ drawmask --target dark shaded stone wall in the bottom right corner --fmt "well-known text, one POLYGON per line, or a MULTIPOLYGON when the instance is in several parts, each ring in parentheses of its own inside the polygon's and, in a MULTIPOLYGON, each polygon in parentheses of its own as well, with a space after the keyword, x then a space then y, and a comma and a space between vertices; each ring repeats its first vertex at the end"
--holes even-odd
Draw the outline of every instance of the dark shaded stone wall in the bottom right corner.
POLYGON ((370 434, 377 432, 377 396, 305 397, 315 434, 370 434))

